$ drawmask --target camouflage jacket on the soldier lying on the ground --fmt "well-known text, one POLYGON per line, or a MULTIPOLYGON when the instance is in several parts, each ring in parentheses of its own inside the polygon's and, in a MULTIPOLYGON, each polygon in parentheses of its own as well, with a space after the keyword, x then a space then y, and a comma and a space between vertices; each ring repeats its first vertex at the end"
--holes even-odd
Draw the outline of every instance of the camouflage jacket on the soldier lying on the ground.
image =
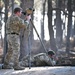
POLYGON ((37 66, 54 66, 55 60, 50 58, 46 53, 39 53, 34 56, 34 62, 37 66))

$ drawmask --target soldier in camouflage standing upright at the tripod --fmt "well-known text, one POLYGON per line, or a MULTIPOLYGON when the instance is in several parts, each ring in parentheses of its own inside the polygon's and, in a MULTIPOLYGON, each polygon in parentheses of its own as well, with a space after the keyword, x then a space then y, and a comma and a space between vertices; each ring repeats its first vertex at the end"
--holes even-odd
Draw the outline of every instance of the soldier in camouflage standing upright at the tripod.
POLYGON ((14 70, 25 69, 19 64, 20 29, 24 28, 24 30, 26 30, 26 24, 24 24, 24 21, 20 18, 21 14, 22 14, 22 9, 16 7, 14 9, 14 14, 11 15, 7 20, 6 34, 7 34, 8 50, 4 59, 4 65, 3 65, 4 69, 11 69, 11 68, 14 68, 14 70), (12 62, 13 64, 11 64, 12 62))

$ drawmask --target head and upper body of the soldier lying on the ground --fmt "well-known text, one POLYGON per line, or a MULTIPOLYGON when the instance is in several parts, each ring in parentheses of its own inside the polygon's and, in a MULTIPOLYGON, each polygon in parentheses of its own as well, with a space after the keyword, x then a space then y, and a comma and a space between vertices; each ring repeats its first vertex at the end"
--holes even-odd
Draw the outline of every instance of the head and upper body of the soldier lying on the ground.
POLYGON ((54 51, 50 50, 48 51, 48 54, 46 53, 39 53, 34 56, 34 64, 36 66, 54 66, 56 65, 56 61, 54 59, 54 51))

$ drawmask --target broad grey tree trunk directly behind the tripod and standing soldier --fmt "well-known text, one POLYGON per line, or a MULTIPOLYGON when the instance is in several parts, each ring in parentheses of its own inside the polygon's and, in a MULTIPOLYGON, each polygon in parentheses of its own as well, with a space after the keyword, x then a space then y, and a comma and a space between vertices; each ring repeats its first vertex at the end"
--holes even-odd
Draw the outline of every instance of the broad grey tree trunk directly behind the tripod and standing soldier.
MULTIPOLYGON (((27 8, 33 8, 34 0, 21 0, 21 2, 22 2, 21 7, 22 7, 24 12, 27 8)), ((25 18, 25 17, 23 16, 23 18, 25 18)), ((32 41, 33 41, 33 28, 31 26, 31 24, 29 26, 30 26, 29 28, 31 29, 29 37, 28 37, 28 34, 29 34, 28 31, 25 31, 25 33, 23 33, 23 29, 21 30, 21 35, 20 35, 20 42, 21 42, 20 59, 22 59, 24 56, 28 55, 28 53, 29 53, 28 48, 30 48, 29 46, 31 46, 32 41)))

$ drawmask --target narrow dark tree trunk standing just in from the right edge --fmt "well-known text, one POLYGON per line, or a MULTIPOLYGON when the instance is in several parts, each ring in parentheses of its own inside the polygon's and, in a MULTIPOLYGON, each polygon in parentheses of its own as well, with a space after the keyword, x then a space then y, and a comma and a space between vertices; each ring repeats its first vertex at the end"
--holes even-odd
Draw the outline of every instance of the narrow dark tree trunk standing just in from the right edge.
POLYGON ((68 25, 67 25, 67 43, 66 43, 66 52, 69 54, 70 50, 70 34, 72 28, 72 9, 71 9, 71 0, 68 0, 68 25))

